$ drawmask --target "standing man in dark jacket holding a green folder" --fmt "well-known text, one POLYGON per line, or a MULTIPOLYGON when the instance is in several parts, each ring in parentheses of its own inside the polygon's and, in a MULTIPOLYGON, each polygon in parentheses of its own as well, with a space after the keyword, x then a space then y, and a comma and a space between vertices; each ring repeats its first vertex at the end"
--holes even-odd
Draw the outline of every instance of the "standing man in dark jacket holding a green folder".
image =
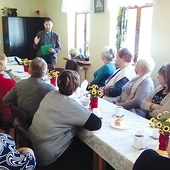
POLYGON ((61 50, 60 36, 52 31, 53 21, 51 18, 45 18, 44 28, 45 30, 39 31, 34 38, 34 49, 38 49, 37 57, 42 57, 47 64, 51 64, 56 68, 57 53, 61 50), (51 44, 52 47, 48 48, 49 54, 42 54, 42 46, 51 44))

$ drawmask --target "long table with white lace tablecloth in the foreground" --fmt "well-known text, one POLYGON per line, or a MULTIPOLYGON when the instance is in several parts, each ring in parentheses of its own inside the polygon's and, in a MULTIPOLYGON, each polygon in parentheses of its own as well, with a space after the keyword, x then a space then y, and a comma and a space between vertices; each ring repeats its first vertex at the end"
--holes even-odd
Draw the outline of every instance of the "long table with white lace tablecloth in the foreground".
MULTIPOLYGON (((148 126, 148 120, 124 109, 123 118, 129 128, 126 130, 116 129, 111 126, 111 123, 116 119, 114 117, 116 105, 100 99, 99 107, 102 107, 102 128, 97 131, 88 131, 82 128, 78 137, 114 169, 132 170, 134 162, 143 151, 133 147, 136 129, 144 130, 146 147, 148 141, 154 140, 150 137, 152 129, 148 126)), ((99 169, 104 168, 101 165, 99 169)))

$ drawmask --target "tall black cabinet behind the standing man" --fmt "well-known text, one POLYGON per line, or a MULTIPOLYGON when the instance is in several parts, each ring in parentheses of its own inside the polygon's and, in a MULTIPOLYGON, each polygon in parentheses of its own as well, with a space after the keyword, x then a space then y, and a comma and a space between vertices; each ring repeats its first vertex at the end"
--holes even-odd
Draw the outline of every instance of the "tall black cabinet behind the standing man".
POLYGON ((34 37, 44 29, 42 17, 2 17, 4 53, 7 56, 33 59, 34 37))

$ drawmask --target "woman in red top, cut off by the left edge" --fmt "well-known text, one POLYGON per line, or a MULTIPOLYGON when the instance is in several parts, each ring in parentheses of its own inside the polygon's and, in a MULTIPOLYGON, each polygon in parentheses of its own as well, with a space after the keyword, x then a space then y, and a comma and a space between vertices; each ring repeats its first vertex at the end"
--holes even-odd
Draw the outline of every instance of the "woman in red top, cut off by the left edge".
POLYGON ((5 94, 15 86, 15 81, 6 78, 4 71, 6 70, 7 57, 4 53, 0 53, 0 121, 12 122, 12 113, 9 104, 3 103, 2 99, 5 94))

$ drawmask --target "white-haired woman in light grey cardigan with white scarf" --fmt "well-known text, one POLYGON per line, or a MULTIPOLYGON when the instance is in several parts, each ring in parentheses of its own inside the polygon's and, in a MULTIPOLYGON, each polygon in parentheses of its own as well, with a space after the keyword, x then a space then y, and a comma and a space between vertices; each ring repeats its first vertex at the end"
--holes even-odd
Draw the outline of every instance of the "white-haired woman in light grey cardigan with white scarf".
POLYGON ((154 67, 155 62, 152 58, 139 59, 135 67, 137 76, 123 86, 122 94, 116 100, 116 104, 145 117, 146 112, 140 108, 140 105, 142 100, 154 90, 150 77, 154 67))

